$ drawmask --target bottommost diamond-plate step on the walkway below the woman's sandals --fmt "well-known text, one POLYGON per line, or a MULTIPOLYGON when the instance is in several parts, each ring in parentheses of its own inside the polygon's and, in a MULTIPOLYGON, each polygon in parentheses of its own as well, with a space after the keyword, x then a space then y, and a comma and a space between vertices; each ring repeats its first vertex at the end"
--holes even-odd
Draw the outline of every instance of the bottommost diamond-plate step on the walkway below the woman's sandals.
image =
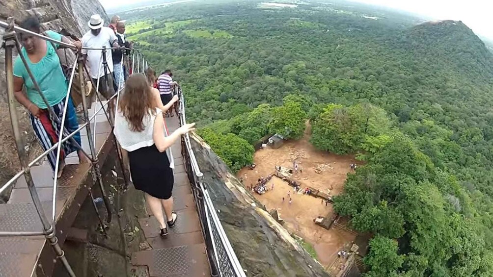
POLYGON ((136 252, 133 265, 147 265, 151 277, 210 276, 204 244, 136 252))

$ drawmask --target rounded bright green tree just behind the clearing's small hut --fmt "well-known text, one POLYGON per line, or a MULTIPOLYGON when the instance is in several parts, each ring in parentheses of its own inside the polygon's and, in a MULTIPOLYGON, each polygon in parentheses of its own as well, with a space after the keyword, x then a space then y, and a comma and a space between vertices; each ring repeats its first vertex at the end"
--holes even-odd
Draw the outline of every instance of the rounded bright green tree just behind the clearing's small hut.
POLYGON ((284 138, 299 139, 305 131, 306 113, 297 102, 287 101, 272 111, 272 121, 269 124, 271 133, 279 133, 284 138))

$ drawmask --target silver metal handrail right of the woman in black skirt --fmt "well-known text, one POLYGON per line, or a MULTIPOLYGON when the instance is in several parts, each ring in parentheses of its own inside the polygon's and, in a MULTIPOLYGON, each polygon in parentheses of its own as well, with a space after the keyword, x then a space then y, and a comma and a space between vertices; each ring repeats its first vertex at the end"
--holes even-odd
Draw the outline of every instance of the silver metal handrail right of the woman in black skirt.
MULTIPOLYGON (((179 108, 178 108, 178 114, 180 118, 181 124, 186 123, 186 117, 185 117, 185 99, 183 96, 183 93, 181 92, 181 88, 178 86, 176 87, 176 94, 179 96, 179 108)), ((194 151, 192 149, 192 145, 190 142, 190 136, 188 134, 185 135, 184 137, 184 144, 185 144, 185 149, 189 157, 189 162, 190 162, 190 167, 192 169, 193 175, 194 175, 194 181, 195 181, 195 188, 200 190, 200 194, 202 195, 201 199, 199 200, 203 207, 205 208, 205 218, 201 218, 206 222, 203 222, 203 224, 207 224, 207 231, 204 231, 203 234, 204 236, 209 236, 208 239, 211 241, 211 246, 212 246, 212 252, 213 252, 213 261, 216 264, 216 268, 218 270, 218 274, 220 277, 246 277, 245 271, 243 270, 242 265, 240 264, 240 261, 238 260, 238 257, 235 254, 235 251, 233 247, 231 246, 231 243, 229 242, 229 239, 224 231, 224 228, 222 227, 221 221, 219 220, 219 216, 217 215, 217 212, 214 208, 214 204, 212 203, 211 196, 209 194, 209 190, 206 185, 202 182, 202 177, 204 174, 201 172, 199 164, 197 162, 197 158, 195 157, 194 151), (214 236, 214 231, 218 234, 218 238, 216 239, 214 236), (219 248, 224 249, 225 255, 227 256, 227 261, 224 261, 227 263, 228 266, 225 266, 226 268, 223 268, 221 265, 224 263, 221 263, 220 255, 219 255, 219 248)))

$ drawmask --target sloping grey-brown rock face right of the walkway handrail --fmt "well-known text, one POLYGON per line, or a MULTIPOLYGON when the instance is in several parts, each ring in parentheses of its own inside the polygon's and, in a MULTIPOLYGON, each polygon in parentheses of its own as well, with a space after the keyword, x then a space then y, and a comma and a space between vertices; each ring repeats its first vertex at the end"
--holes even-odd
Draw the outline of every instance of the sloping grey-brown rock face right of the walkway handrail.
POLYGON ((224 230, 247 276, 328 277, 199 137, 192 145, 224 230), (252 205, 254 203, 254 205, 252 205))

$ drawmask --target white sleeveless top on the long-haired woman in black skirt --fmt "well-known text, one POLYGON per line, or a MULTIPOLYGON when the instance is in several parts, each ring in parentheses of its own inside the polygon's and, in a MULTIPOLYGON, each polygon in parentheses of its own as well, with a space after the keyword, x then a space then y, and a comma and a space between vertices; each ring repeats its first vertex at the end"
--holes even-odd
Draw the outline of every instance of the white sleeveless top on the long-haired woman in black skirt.
MULTIPOLYGON (((118 111, 115 115, 115 129, 113 133, 118 140, 118 143, 121 145, 123 149, 128 152, 136 151, 143 147, 148 147, 154 144, 153 132, 154 132, 154 120, 156 116, 162 116, 161 109, 156 108, 156 115, 152 115, 151 111, 144 116, 143 118, 143 126, 144 130, 141 132, 134 132, 130 128, 130 124, 123 117, 120 111, 118 111)), ((168 136, 168 131, 166 127, 164 128, 164 135, 168 136)), ((168 159, 170 160, 170 167, 175 168, 175 163, 173 160, 173 153, 171 152, 171 147, 166 149, 166 155, 168 155, 168 159)))

